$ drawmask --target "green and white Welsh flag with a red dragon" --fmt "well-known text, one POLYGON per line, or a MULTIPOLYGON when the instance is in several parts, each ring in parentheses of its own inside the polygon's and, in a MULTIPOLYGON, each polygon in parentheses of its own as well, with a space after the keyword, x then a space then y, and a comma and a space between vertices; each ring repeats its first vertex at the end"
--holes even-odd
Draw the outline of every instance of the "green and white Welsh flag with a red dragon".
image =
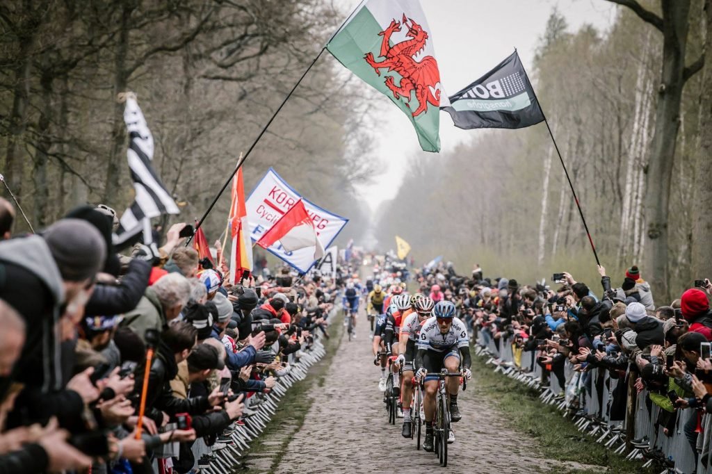
POLYGON ((418 0, 362 2, 326 47, 408 116, 422 149, 440 151, 439 107, 450 102, 418 0))

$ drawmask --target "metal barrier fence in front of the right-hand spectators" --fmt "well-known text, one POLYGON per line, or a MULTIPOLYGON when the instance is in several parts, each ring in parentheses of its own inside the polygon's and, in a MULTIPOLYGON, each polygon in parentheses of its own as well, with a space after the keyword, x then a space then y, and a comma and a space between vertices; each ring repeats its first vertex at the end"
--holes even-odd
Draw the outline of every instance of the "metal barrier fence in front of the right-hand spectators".
POLYGON ((487 363, 493 365, 494 372, 502 372, 539 389, 544 404, 556 406, 565 416, 571 416, 578 430, 590 435, 592 441, 625 455, 629 460, 647 459, 646 468, 656 463, 663 468, 662 473, 712 474, 712 467, 707 462, 712 447, 712 415, 702 414, 695 423, 700 413, 698 410, 677 409, 669 414, 675 421, 666 434, 665 423, 661 421, 664 410, 651 401, 649 391, 644 389, 637 396, 629 395, 635 394, 635 390, 629 390, 628 372, 620 378, 602 367, 587 373, 576 372, 567 360, 563 373, 559 372, 563 378, 560 381, 555 372, 545 371, 538 364, 536 350, 523 351, 515 347, 513 337, 497 341, 482 330, 478 331, 475 352, 489 357, 487 363), (624 411, 615 407, 614 402, 621 400, 619 397, 624 397, 624 411), (629 410, 630 414, 626 416, 629 410), (685 433, 688 423, 697 425, 693 426, 698 431, 697 462, 685 433), (628 442, 627 436, 632 436, 628 442))

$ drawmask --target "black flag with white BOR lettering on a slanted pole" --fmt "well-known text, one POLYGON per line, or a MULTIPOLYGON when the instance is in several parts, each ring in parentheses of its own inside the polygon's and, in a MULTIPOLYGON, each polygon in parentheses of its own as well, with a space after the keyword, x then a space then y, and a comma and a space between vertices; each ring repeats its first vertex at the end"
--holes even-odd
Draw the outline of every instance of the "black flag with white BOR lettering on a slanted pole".
POLYGON ((496 68, 451 96, 448 107, 455 126, 523 128, 544 120, 527 73, 515 51, 496 68))

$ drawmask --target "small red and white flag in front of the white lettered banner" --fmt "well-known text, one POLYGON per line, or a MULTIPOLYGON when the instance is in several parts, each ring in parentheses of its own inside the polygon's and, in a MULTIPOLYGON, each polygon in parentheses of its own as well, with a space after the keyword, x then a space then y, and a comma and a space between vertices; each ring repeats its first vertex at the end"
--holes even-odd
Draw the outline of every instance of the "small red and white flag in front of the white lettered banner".
POLYGON ((288 252, 315 247, 314 259, 324 256, 324 247, 316 235, 314 222, 301 199, 263 234, 257 245, 268 248, 276 241, 288 252))

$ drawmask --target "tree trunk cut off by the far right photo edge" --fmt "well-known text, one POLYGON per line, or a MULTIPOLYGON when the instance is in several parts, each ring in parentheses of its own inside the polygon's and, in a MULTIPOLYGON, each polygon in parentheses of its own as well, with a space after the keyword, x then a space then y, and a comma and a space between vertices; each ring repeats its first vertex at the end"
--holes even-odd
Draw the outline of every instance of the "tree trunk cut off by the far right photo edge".
POLYGON ((695 181, 692 202, 692 275, 693 278, 712 278, 712 0, 705 0, 704 6, 704 48, 706 61, 702 73, 700 93, 700 118, 696 154, 695 181))

